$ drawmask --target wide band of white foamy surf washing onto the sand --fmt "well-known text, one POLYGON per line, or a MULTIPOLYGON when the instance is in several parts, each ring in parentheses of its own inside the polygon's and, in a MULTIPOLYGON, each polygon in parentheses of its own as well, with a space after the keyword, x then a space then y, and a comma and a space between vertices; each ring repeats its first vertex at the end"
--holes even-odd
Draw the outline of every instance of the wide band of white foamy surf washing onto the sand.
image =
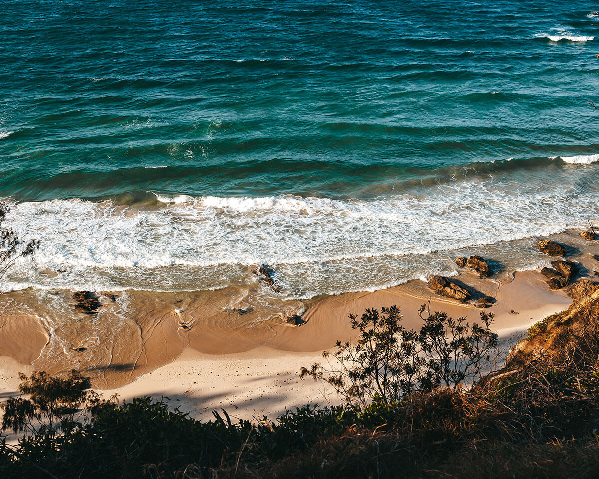
POLYGON ((162 205, 150 210, 109 201, 24 202, 14 205, 10 226, 23 238, 41 238, 42 247, 35 263, 19 262, 6 284, 213 289, 268 263, 289 297, 377 289, 431 272, 452 274, 448 251, 599 218, 592 172, 584 172, 589 181, 582 189, 576 180, 582 172, 558 174, 551 184, 500 175, 440 185, 426 196, 368 201, 154 192, 162 205), (58 276, 44 275, 48 270, 58 276))

